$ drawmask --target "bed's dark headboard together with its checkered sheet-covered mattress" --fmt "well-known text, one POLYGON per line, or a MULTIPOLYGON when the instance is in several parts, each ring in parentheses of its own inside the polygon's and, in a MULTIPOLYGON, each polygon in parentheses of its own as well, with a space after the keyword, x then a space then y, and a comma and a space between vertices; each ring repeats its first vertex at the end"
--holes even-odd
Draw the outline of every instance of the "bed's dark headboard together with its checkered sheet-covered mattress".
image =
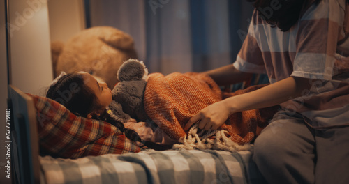
POLYGON ((129 183, 129 181, 157 183, 156 181, 162 181, 167 183, 171 178, 172 182, 192 183, 193 180, 197 179, 191 178, 192 174, 194 176, 200 175, 198 178, 202 181, 205 180, 206 183, 214 181, 221 183, 218 181, 226 179, 232 183, 265 183, 258 168, 251 160, 251 152, 248 151, 240 153, 198 150, 145 151, 128 155, 109 155, 109 158, 108 155, 86 157, 81 162, 69 159, 57 161, 51 157, 40 158, 34 100, 15 86, 10 85, 8 86, 8 109, 10 109, 11 118, 11 137, 5 142, 11 144, 11 178, 13 183, 89 183, 92 181, 94 183, 99 183, 95 181, 109 183, 129 183), (43 161, 42 164, 39 160, 43 161), (87 160, 89 161, 87 162, 87 160), (105 162, 106 160, 109 161, 105 162), (179 167, 184 160, 186 160, 186 167, 179 167), (157 163, 158 165, 156 165, 157 163), (168 166, 171 164, 177 165, 177 167, 169 169, 168 166), (98 168, 91 169, 96 167, 98 168), (57 168, 63 174, 58 175, 59 181, 56 181, 57 168), (67 168, 70 170, 64 171, 67 168), (112 168, 117 169, 110 173, 112 168), (186 175, 182 177, 179 173, 186 173, 186 175))

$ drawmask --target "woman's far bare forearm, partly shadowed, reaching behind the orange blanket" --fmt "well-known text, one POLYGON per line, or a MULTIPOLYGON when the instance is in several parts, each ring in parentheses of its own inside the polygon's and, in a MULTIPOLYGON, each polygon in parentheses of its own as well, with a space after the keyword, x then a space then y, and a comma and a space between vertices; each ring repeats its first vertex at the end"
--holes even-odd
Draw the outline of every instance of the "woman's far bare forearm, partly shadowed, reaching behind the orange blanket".
POLYGON ((221 68, 209 70, 204 73, 214 79, 218 86, 244 82, 252 75, 252 73, 240 72, 233 65, 222 66, 221 68))

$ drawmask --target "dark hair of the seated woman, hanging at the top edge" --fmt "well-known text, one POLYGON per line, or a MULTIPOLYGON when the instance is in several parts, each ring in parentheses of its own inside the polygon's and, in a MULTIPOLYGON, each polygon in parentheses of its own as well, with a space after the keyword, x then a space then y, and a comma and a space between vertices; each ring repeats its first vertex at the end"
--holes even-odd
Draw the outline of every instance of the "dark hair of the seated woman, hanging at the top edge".
MULTIPOLYGON (((298 22, 307 1, 304 0, 249 0, 259 15, 281 31, 288 31, 298 22)), ((315 0, 318 3, 320 0, 315 0)))

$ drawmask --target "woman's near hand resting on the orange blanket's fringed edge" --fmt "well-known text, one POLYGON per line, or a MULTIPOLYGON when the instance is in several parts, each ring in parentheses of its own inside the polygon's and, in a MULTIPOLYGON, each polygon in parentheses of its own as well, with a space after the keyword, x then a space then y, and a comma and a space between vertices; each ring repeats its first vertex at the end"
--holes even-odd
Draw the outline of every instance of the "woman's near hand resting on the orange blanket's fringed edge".
POLYGON ((216 102, 202 109, 198 114, 195 114, 186 126, 184 130, 188 130, 191 125, 198 122, 199 128, 203 130, 216 130, 220 127, 229 117, 229 108, 226 107, 224 100, 216 102))

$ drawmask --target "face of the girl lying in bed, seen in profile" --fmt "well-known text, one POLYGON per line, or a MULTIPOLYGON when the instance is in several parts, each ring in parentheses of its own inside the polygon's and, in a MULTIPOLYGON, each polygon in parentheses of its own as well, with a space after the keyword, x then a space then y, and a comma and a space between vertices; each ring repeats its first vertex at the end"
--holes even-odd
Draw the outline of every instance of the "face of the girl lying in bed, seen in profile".
POLYGON ((84 84, 94 91, 94 94, 98 98, 100 104, 103 107, 107 107, 112 102, 112 91, 108 88, 105 82, 97 82, 97 80, 87 72, 79 72, 82 74, 84 84))

